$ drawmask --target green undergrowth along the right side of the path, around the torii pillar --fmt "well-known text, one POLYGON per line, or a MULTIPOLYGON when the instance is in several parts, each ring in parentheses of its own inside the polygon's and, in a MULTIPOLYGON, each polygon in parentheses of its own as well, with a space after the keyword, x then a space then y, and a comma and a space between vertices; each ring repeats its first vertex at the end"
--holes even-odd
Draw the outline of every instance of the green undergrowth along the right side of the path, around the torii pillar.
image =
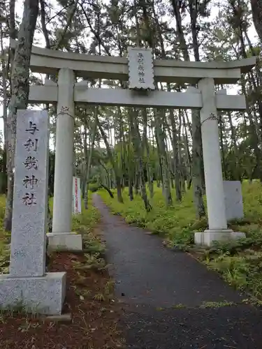
POLYGON ((117 202, 117 195, 112 199, 105 191, 99 194, 112 213, 123 216, 126 223, 135 223, 165 237, 169 247, 190 251, 233 287, 249 290, 262 299, 262 185, 259 181, 243 182, 245 218, 228 224, 234 231, 245 232, 247 239, 216 243, 212 248, 194 246, 194 232, 208 228, 208 221, 196 219, 192 191, 184 195, 181 203, 175 202, 166 209, 161 188, 155 187, 154 198, 150 200, 153 209, 149 213, 139 195, 130 202, 127 188, 123 191, 124 204, 117 202))

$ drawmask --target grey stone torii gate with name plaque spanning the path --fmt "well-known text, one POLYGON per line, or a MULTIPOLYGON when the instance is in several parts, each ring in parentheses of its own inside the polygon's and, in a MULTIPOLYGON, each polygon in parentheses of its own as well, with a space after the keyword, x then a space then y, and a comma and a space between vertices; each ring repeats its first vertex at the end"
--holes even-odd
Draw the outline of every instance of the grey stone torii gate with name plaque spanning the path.
POLYGON ((57 135, 54 170, 53 228, 51 246, 82 248, 80 235, 71 233, 73 131, 75 103, 132 107, 189 108, 201 110, 201 132, 208 202, 208 230, 195 235, 196 244, 245 237, 228 230, 224 200, 217 110, 245 110, 245 96, 228 96, 215 84, 235 84, 256 58, 229 62, 154 60, 150 49, 129 48, 129 57, 103 57, 33 47, 31 71, 54 75, 57 84, 45 80, 31 86, 29 103, 57 103, 57 135), (129 89, 87 88, 76 77, 129 81, 129 89), (155 90, 157 82, 197 84, 186 92, 155 90))

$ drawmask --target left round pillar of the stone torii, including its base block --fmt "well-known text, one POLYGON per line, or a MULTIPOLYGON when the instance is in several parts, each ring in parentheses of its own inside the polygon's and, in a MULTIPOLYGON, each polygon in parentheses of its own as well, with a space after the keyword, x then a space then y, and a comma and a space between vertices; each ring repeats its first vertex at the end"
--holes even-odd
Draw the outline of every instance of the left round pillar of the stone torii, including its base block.
POLYGON ((55 250, 82 250, 82 236, 71 232, 74 84, 73 70, 61 68, 58 75, 52 233, 48 234, 48 245, 55 250))

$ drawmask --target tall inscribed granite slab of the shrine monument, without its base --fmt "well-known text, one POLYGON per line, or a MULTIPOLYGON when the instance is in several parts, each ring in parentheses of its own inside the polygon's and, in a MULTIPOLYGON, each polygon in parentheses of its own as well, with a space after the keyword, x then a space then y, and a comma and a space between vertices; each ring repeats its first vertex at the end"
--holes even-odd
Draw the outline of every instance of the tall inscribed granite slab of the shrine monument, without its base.
POLYGON ((48 200, 48 112, 19 110, 10 276, 43 276, 48 200))

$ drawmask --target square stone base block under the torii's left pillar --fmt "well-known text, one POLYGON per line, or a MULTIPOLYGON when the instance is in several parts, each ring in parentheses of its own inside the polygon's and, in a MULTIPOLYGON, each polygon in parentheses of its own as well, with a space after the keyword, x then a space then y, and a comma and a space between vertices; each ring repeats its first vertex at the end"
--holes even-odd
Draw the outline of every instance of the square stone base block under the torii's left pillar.
POLYGON ((51 251, 82 251, 82 235, 73 232, 48 232, 48 248, 51 251))

